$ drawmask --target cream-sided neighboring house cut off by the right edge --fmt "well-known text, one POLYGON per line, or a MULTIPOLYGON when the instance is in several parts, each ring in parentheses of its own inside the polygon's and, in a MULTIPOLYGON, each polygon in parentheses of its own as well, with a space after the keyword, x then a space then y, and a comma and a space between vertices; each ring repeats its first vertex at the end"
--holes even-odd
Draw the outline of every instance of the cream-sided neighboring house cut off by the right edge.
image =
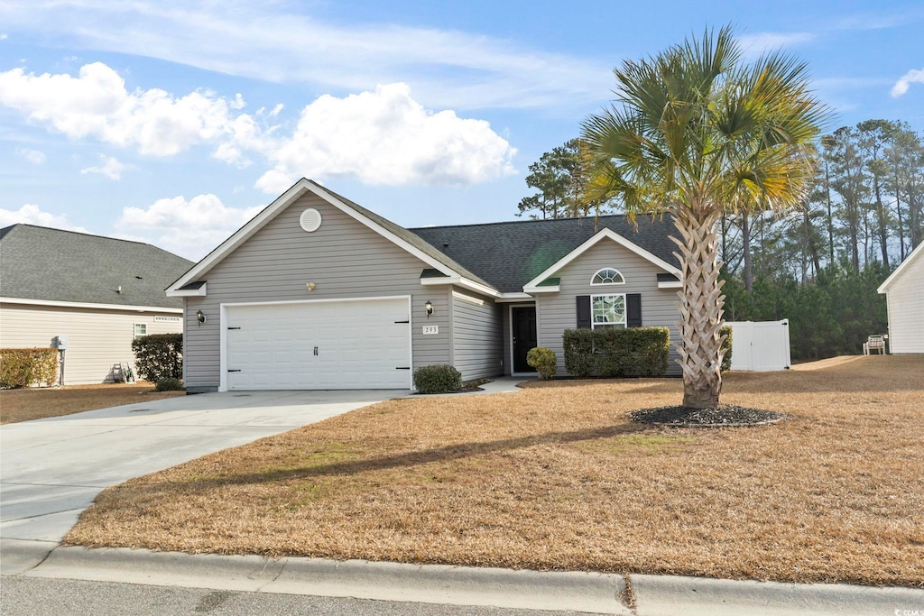
POLYGON ((889 309, 890 353, 924 353, 924 242, 879 287, 889 309))

